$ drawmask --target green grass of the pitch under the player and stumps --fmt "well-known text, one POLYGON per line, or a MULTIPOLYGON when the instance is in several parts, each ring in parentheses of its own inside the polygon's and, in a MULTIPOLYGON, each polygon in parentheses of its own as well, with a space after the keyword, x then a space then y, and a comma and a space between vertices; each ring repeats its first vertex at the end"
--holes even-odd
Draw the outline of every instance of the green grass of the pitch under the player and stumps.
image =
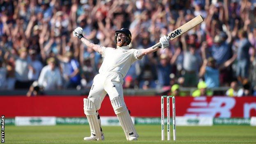
MULTIPOLYGON (((5 126, 6 144, 256 144, 256 127, 252 126, 177 126, 177 141, 161 141, 158 125, 136 125, 140 137, 128 142, 119 126, 103 126, 105 141, 85 142, 89 136, 89 126, 5 126)), ((166 130, 166 129, 165 129, 166 130)), ((165 134, 167 132, 165 131, 165 134)), ((171 133, 172 138, 172 133, 171 133)), ((167 139, 167 137, 165 137, 167 139)))

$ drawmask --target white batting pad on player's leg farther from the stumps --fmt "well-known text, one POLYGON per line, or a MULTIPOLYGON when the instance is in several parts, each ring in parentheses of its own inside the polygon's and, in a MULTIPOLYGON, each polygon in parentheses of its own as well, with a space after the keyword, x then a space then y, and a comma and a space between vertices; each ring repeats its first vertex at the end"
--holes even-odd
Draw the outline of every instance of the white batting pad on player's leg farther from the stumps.
POLYGON ((84 111, 90 125, 91 135, 101 140, 101 127, 96 116, 96 108, 94 103, 87 98, 84 98, 84 111))

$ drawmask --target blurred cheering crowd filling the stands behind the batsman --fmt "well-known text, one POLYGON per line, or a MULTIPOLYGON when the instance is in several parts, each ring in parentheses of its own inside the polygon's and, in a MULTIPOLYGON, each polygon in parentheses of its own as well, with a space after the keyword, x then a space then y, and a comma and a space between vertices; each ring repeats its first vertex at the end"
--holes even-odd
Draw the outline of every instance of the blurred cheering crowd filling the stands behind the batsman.
POLYGON ((199 14, 203 23, 136 61, 123 88, 256 96, 256 0, 0 0, 0 89, 90 89, 103 59, 73 29, 116 47, 114 32, 126 27, 141 49, 199 14))

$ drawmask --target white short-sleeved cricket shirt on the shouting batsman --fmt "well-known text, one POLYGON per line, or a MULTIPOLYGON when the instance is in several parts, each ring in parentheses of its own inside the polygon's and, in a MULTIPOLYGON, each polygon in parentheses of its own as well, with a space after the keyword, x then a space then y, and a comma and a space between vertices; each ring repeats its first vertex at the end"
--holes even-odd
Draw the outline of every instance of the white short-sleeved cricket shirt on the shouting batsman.
POLYGON ((99 73, 117 72, 121 73, 123 78, 126 76, 130 66, 137 58, 137 49, 129 49, 129 46, 117 48, 103 47, 104 60, 99 73))

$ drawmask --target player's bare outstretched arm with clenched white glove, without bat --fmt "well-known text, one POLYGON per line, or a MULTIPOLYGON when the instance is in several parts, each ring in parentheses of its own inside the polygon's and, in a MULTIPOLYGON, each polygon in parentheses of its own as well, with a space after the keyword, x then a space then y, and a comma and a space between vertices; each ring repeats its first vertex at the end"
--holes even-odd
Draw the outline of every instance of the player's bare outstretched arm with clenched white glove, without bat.
POLYGON ((78 37, 78 39, 80 39, 82 41, 82 43, 84 43, 88 48, 93 49, 94 51, 100 53, 101 55, 103 54, 103 46, 100 46, 98 44, 94 44, 93 42, 91 42, 89 39, 86 39, 83 35, 82 35, 82 28, 78 27, 75 30, 73 30, 73 36, 74 37, 78 37))

